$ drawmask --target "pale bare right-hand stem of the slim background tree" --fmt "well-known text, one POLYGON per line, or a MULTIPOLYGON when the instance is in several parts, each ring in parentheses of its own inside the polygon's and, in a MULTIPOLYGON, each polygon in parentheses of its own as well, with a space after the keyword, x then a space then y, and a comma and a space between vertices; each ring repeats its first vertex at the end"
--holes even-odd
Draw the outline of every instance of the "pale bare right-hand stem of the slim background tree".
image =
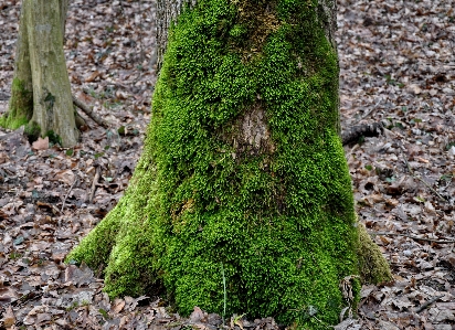
POLYGON ((53 131, 63 147, 78 139, 70 78, 63 53, 67 0, 24 0, 33 79, 32 121, 41 135, 53 131))

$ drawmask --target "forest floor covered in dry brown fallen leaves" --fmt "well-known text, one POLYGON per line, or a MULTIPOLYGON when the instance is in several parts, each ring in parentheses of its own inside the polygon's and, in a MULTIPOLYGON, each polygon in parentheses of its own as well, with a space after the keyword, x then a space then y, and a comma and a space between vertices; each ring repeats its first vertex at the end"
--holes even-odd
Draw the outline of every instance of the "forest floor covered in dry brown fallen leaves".
MULTIPOLYGON (((63 263, 127 187, 156 79, 155 2, 70 2, 73 92, 112 128, 87 118, 72 149, 0 129, 0 329, 222 327, 199 309, 180 318, 158 297, 112 301, 97 274, 63 263)), ((363 286, 356 319, 335 329, 455 329, 454 8, 455 0, 339 1, 342 127, 388 127, 347 146, 346 157, 359 217, 394 281, 363 286)), ((11 93, 19 11, 20 1, 0 3, 0 114, 11 93)), ((247 317, 226 327, 279 328, 247 317)))

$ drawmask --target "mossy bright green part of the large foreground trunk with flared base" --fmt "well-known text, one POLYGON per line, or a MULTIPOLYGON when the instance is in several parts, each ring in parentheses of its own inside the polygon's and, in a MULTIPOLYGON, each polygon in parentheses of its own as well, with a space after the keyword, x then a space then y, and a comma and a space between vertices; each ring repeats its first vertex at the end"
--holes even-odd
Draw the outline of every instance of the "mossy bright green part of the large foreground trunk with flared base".
POLYGON ((355 307, 359 277, 390 279, 353 209, 334 20, 331 0, 183 7, 129 188, 67 260, 110 296, 305 329, 355 307))

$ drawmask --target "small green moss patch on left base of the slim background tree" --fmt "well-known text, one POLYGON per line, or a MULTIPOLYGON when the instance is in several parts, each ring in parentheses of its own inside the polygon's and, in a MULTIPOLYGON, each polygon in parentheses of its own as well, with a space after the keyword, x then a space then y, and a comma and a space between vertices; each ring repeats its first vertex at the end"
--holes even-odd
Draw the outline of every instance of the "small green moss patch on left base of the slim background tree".
POLYGON ((33 115, 33 93, 25 88, 22 81, 14 78, 8 113, 0 117, 0 126, 18 129, 25 125, 33 115))

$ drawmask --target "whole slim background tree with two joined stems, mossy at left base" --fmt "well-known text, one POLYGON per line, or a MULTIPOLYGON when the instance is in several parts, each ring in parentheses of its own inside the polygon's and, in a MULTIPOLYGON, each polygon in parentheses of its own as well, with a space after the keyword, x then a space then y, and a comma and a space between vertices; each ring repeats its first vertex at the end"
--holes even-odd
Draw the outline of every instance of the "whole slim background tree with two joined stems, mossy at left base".
POLYGON ((70 79, 63 53, 67 0, 24 0, 8 113, 0 125, 28 124, 31 135, 53 135, 62 146, 77 142, 70 79))

